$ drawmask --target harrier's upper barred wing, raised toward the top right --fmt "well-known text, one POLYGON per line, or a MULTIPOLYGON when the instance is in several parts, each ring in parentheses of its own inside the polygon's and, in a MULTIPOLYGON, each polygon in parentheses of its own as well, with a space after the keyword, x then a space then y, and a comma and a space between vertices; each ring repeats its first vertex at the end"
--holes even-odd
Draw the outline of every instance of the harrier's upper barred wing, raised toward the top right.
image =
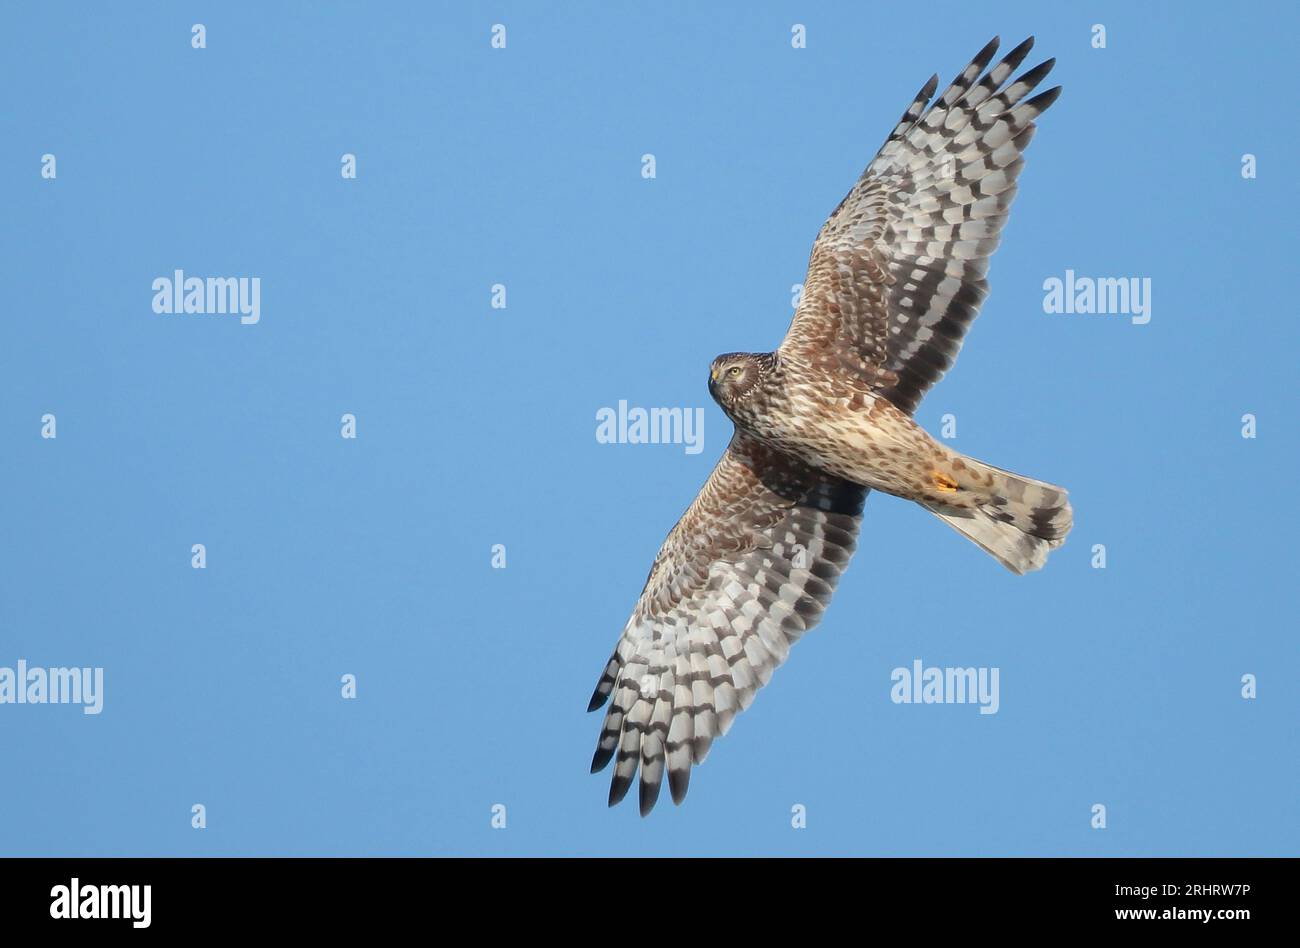
POLYGON ((928 109, 939 77, 926 83, 823 225, 780 349, 862 378, 906 412, 957 358, 1034 120, 1061 92, 1024 99, 1056 60, 1006 82, 1032 36, 985 73, 997 43, 928 109))

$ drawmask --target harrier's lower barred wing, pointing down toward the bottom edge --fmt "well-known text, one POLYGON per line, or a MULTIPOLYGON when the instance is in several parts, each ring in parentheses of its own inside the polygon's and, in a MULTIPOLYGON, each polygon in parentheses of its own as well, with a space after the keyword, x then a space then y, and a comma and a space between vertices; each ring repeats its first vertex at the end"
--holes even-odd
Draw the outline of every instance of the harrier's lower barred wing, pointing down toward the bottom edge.
POLYGON ((611 759, 610 805, 641 770, 641 815, 667 767, 690 766, 785 661, 831 601, 857 545, 866 488, 737 432, 655 557, 588 710, 612 694, 592 759, 611 759))

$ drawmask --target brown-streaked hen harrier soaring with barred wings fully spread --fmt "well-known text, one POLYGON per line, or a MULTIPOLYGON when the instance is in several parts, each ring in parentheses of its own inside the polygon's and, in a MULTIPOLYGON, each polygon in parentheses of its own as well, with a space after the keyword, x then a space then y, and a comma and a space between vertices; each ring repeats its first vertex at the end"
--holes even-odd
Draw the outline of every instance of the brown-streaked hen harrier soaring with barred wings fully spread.
POLYGON ((1032 99, 1054 62, 1008 83, 1030 38, 984 69, 993 39, 927 107, 924 85, 818 234, 775 352, 718 356, 708 393, 736 425, 655 557, 589 710, 614 702, 592 772, 615 759, 610 805, 641 769, 641 814, 667 767, 690 766, 812 628, 857 545, 875 488, 916 501, 1009 570, 1037 570, 1070 531, 1062 488, 965 458, 911 420, 952 365, 1015 195, 1032 99))

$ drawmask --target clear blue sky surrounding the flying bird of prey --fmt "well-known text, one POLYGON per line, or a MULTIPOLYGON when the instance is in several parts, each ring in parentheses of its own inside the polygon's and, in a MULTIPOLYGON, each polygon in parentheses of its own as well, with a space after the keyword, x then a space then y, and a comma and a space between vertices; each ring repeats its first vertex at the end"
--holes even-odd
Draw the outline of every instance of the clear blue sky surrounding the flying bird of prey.
POLYGON ((0 705, 0 853, 1300 849, 1294 7, 3 25, 0 666, 103 666, 105 697, 0 705), (812 237, 922 82, 1031 33, 1065 94, 918 419, 1069 486, 1070 542, 1015 577, 872 497, 826 622, 686 804, 607 810, 585 706, 729 437, 708 362, 777 345, 812 237), (260 277, 261 321, 156 315, 177 268, 260 277), (1150 323, 1045 315, 1066 269, 1150 278, 1150 323), (703 451, 598 443, 620 399, 703 407, 703 451), (998 713, 892 704, 918 658, 1000 668, 998 713))

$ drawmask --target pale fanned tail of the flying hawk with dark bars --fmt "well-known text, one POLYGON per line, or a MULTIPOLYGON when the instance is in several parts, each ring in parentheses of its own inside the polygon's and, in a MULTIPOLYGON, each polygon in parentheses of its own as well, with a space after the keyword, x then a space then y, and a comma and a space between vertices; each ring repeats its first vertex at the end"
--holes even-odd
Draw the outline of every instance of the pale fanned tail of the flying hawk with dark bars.
POLYGON ((1054 484, 1004 471, 970 458, 962 462, 992 480, 978 488, 974 506, 927 503, 927 510, 1014 573, 1041 568, 1074 524, 1069 493, 1054 484))

